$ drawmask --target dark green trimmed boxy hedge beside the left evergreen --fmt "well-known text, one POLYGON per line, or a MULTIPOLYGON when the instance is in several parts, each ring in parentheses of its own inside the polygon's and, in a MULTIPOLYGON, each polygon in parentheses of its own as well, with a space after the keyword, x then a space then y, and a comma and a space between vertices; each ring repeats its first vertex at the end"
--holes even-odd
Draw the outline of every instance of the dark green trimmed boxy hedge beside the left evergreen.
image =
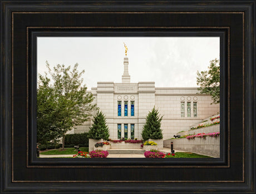
MULTIPOLYGON (((85 147, 88 147, 89 145, 89 139, 88 139, 88 133, 75 133, 75 134, 67 134, 65 136, 65 147, 66 145, 85 145, 85 147)), ((84 146, 83 146, 84 147, 84 146)))

